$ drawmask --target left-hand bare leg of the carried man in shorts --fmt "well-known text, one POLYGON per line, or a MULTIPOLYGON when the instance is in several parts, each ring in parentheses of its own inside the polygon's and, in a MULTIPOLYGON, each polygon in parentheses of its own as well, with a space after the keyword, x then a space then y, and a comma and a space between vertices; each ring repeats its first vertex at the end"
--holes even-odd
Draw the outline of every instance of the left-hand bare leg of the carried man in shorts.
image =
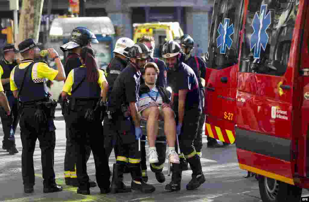
POLYGON ((155 147, 155 140, 157 139, 159 128, 159 115, 160 111, 158 107, 148 107, 142 112, 142 117, 147 119, 147 137, 149 147, 155 147))

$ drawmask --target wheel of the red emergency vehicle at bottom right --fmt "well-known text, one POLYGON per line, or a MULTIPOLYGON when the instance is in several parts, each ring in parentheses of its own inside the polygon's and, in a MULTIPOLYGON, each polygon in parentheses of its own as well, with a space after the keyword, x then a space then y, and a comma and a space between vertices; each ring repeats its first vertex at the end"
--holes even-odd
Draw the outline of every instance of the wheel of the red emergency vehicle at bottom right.
POLYGON ((300 201, 302 195, 302 188, 261 175, 259 176, 259 189, 263 202, 300 201))

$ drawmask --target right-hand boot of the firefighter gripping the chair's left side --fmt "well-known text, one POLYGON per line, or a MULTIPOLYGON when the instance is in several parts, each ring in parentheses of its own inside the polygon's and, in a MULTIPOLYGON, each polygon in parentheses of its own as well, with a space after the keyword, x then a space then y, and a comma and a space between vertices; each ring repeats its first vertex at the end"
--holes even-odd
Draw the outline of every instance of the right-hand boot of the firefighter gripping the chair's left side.
POLYGON ((136 191, 142 191, 143 193, 152 193, 155 191, 154 186, 147 184, 143 181, 141 165, 131 167, 130 171, 132 176, 131 189, 136 191))

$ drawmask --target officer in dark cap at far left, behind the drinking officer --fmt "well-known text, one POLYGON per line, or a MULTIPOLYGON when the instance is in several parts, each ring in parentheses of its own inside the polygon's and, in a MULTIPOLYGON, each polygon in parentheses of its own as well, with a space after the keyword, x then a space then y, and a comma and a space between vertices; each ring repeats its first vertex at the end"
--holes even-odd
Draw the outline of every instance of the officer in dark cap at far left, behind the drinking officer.
POLYGON ((15 53, 18 53, 14 44, 6 44, 3 48, 3 59, 0 60, 0 74, 1 82, 3 84, 4 93, 6 94, 7 100, 10 104, 10 108, 12 110, 12 117, 6 116, 4 109, 0 112, 2 128, 3 128, 3 141, 2 141, 2 149, 6 149, 9 154, 16 154, 18 150, 15 145, 15 131, 19 121, 19 113, 18 113, 18 102, 17 99, 14 98, 13 93, 10 89, 10 74, 12 69, 18 65, 15 58, 15 53))

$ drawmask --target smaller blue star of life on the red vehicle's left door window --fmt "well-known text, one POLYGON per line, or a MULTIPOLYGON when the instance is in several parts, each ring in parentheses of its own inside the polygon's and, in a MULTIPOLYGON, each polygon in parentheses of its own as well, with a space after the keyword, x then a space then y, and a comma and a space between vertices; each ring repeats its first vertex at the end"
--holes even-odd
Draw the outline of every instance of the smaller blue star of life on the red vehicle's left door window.
POLYGON ((218 36, 217 38, 217 48, 221 46, 220 48, 221 54, 225 54, 226 47, 230 49, 233 44, 231 35, 234 34, 234 24, 231 24, 230 26, 229 24, 230 19, 225 18, 224 26, 222 25, 222 23, 220 23, 218 27, 218 33, 220 34, 220 36, 218 36))

